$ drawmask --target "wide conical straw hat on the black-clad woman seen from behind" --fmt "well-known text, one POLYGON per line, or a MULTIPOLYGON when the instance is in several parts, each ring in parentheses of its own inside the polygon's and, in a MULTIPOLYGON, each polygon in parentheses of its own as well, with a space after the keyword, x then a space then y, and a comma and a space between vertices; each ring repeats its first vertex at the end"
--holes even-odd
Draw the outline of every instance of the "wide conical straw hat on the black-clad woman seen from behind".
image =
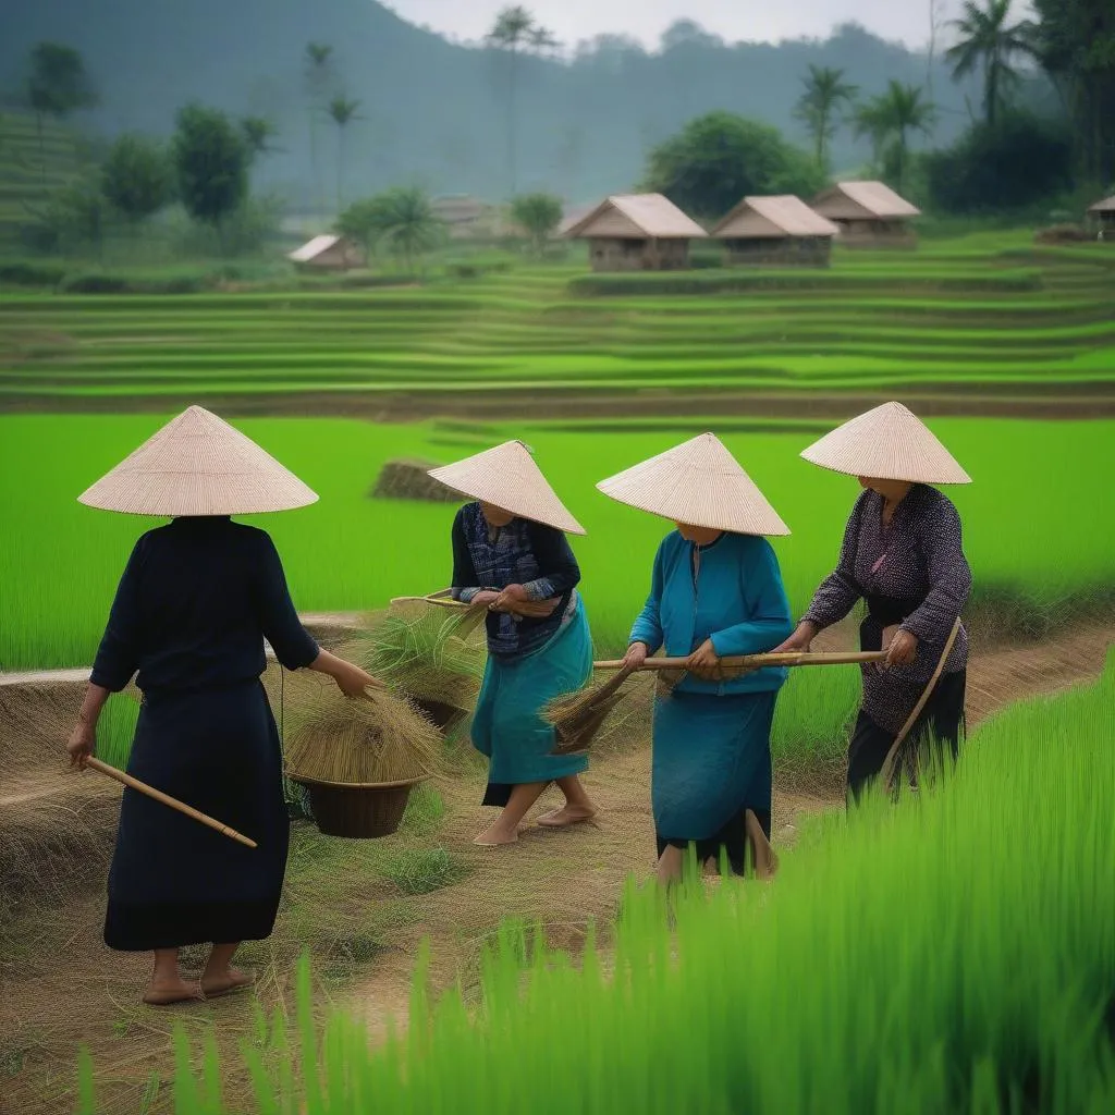
POLYGON ((103 476, 78 502, 129 515, 252 515, 318 496, 251 438, 191 407, 103 476))

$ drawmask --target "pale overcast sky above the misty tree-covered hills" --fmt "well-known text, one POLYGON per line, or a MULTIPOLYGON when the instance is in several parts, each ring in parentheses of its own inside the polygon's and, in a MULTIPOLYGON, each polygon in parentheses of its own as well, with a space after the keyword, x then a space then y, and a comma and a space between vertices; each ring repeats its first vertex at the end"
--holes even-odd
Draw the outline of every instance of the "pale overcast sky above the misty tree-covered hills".
MULTIPOLYGON (((507 0, 386 2, 413 23, 478 40, 507 0)), ((825 38, 833 26, 855 20, 884 39, 922 47, 929 40, 931 2, 946 20, 954 18, 962 4, 962 0, 524 0, 524 7, 566 46, 618 32, 653 47, 675 20, 692 19, 729 42, 825 38)), ((1016 3, 1021 16, 1022 0, 1016 3)))

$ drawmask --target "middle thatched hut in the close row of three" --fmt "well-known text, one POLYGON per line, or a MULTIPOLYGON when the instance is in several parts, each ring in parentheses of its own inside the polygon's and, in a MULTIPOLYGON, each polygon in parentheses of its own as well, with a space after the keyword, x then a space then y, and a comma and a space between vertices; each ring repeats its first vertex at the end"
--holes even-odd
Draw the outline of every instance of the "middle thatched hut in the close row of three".
POLYGON ((840 229, 792 194, 745 197, 716 227, 725 262, 826 268, 840 229))

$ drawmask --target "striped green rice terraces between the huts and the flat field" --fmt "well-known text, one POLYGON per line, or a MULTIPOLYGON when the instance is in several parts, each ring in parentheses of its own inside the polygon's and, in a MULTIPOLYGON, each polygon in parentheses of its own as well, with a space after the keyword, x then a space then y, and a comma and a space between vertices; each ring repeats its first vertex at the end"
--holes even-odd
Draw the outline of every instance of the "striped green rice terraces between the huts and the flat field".
MULTIPOLYGON (((1115 250, 972 237, 827 272, 517 266, 377 290, 0 297, 0 406, 416 417, 1115 406, 1115 250), (230 407, 232 410, 230 411, 230 407)), ((288 284, 289 285, 289 284, 288 284)))

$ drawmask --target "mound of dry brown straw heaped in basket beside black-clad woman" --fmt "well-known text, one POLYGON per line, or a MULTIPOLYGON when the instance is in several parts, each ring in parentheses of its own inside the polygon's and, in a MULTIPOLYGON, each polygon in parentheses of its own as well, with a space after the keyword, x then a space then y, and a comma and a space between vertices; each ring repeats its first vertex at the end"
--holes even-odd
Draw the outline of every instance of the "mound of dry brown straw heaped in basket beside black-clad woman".
POLYGON ((293 675, 288 697, 285 759, 295 780, 368 786, 445 773, 442 734, 394 694, 352 700, 327 679, 293 675))

